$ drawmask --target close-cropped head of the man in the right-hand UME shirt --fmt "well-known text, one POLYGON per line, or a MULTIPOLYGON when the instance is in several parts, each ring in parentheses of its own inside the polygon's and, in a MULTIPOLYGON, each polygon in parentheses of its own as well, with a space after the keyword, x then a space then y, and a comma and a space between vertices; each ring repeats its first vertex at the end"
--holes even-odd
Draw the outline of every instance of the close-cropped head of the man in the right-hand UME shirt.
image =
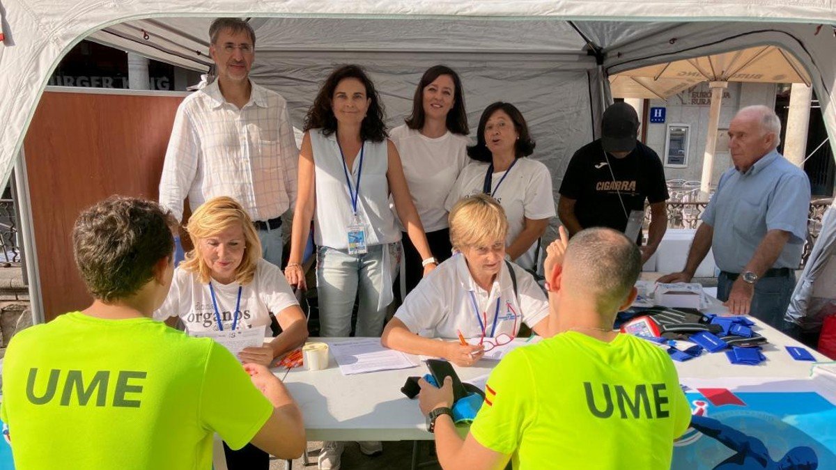
POLYGON ((634 240, 611 228, 581 230, 569 240, 564 263, 577 263, 576 279, 594 289, 599 313, 617 309, 641 273, 641 253, 634 240))

